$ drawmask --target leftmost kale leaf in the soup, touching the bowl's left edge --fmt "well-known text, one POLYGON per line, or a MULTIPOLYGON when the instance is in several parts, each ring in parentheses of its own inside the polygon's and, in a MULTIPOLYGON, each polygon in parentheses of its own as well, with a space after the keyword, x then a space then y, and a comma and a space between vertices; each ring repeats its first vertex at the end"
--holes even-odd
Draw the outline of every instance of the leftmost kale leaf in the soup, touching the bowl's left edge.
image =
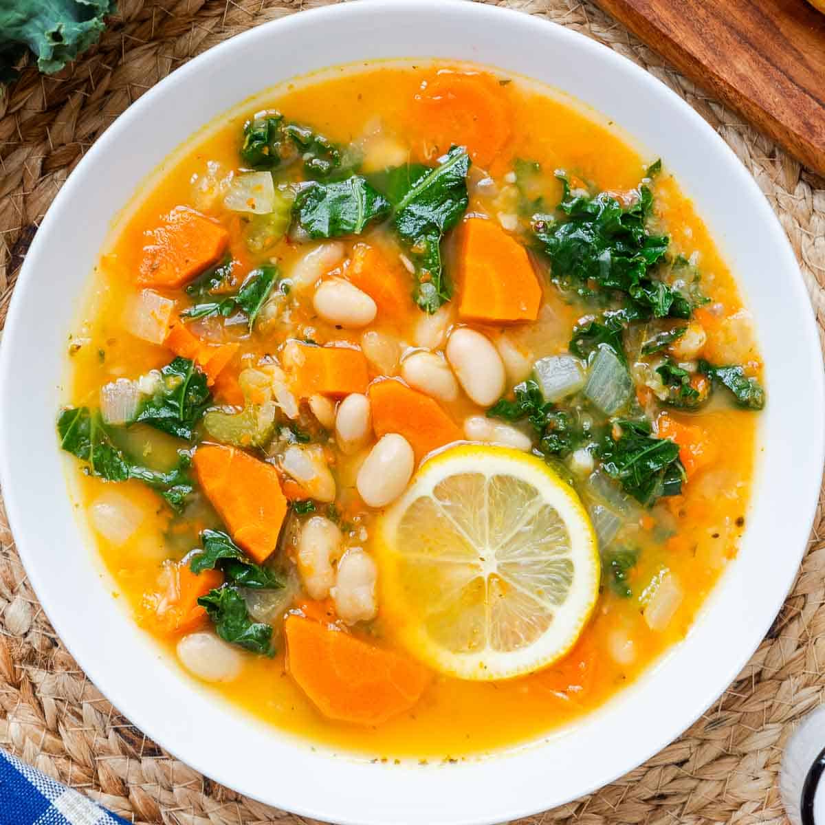
POLYGON ((167 472, 138 464, 115 446, 101 414, 87 407, 64 409, 58 418, 60 446, 87 462, 88 472, 106 481, 137 479, 157 490, 173 510, 179 512, 192 492, 189 477, 191 453, 178 451, 177 466, 167 472))

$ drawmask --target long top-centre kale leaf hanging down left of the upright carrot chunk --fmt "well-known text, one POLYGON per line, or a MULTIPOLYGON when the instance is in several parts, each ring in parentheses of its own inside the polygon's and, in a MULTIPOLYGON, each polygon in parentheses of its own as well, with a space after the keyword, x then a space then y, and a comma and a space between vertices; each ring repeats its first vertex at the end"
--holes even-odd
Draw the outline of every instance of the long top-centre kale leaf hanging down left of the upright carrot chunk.
POLYGON ((394 228, 415 266, 413 297, 428 313, 450 300, 441 262, 441 238, 459 222, 469 204, 469 166, 469 155, 454 146, 439 158, 436 167, 416 164, 375 177, 376 183, 383 181, 384 195, 394 206, 394 228))

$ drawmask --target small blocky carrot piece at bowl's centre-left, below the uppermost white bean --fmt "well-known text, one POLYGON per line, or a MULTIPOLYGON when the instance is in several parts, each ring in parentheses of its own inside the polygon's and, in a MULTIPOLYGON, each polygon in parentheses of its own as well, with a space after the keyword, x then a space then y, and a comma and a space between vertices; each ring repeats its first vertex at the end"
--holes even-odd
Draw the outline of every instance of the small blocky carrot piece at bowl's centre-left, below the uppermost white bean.
POLYGON ((364 393, 369 380, 366 358, 350 347, 314 347, 299 341, 287 343, 284 363, 290 370, 295 394, 332 395, 340 398, 364 393))

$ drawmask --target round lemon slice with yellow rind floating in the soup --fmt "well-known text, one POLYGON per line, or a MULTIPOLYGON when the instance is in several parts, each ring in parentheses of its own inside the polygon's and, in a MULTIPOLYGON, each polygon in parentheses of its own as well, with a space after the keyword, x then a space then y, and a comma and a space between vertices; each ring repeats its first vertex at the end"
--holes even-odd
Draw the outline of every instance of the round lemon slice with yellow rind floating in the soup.
POLYGON ((382 610, 408 651, 461 679, 508 679, 562 658, 598 595, 596 535, 540 459, 453 447, 382 516, 382 610))

